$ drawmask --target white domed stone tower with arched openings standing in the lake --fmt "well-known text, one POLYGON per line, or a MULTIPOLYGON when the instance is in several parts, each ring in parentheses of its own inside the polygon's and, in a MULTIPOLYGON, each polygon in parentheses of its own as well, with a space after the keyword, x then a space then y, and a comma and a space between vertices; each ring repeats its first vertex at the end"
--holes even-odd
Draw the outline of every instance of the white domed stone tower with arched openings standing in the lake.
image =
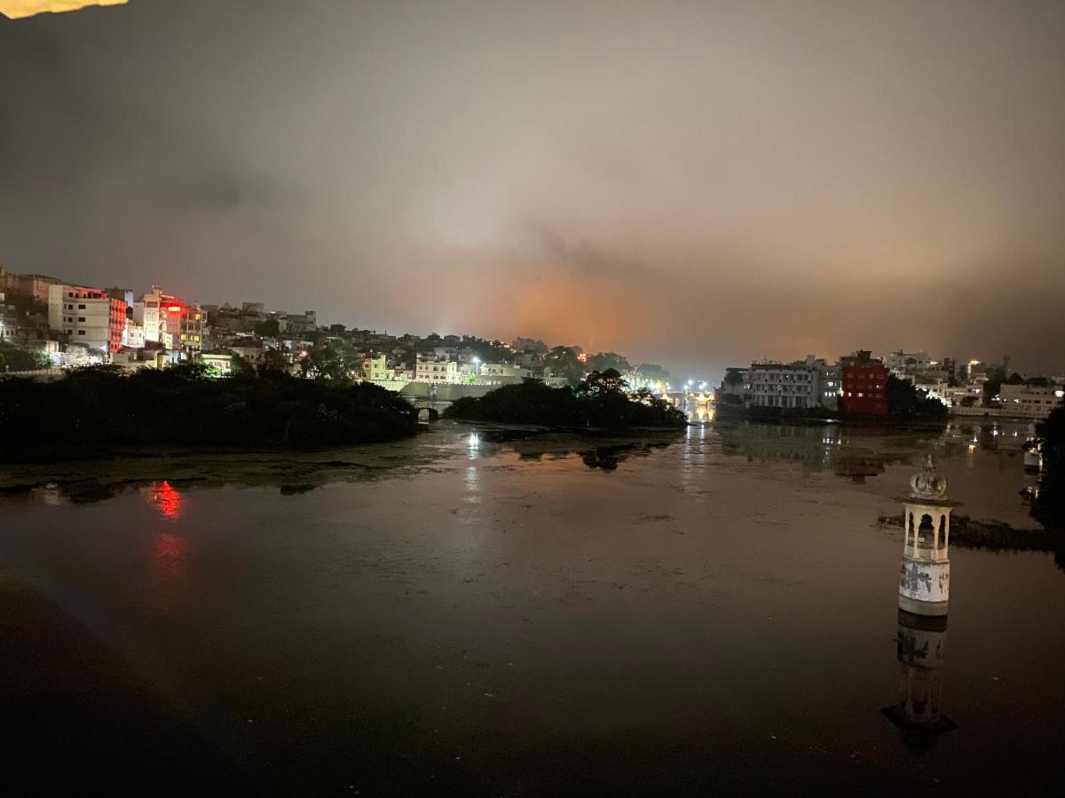
POLYGON ((910 478, 903 499, 906 531, 899 576, 899 609, 915 615, 946 615, 950 597, 950 511, 947 480, 935 471, 932 455, 910 478))

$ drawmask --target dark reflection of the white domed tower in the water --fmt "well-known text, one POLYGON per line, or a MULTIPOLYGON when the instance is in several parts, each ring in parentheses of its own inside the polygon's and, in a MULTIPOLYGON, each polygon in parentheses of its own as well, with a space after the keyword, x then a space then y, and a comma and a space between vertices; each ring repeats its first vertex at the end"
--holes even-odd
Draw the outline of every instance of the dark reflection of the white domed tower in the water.
POLYGON ((899 610, 899 701, 881 712, 902 731, 914 752, 935 745, 936 735, 956 728, 943 714, 947 616, 929 617, 899 610))

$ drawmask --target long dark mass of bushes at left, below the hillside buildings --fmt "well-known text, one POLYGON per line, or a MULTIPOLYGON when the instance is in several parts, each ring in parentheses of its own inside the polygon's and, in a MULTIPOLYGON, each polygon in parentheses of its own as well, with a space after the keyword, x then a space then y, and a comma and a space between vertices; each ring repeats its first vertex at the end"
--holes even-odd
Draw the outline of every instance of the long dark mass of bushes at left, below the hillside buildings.
POLYGON ((313 448, 413 434, 413 408, 372 384, 286 375, 209 379, 197 365, 77 369, 55 382, 0 381, 5 460, 129 446, 313 448))

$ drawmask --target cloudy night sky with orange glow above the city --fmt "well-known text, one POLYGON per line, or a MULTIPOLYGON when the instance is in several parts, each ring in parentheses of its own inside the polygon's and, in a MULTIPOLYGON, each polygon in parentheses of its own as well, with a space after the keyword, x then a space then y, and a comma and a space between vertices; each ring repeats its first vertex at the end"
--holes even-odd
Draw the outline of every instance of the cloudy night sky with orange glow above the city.
POLYGON ((1053 0, 0 19, 0 264, 678 375, 1062 372, 1063 40, 1053 0))

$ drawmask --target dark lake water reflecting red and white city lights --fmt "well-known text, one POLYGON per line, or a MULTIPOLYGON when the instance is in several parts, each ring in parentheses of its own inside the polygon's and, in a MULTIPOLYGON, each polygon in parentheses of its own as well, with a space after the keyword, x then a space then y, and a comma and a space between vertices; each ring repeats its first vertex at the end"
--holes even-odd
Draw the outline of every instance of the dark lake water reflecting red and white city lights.
POLYGON ((1065 571, 952 547, 947 631, 915 631, 878 525, 934 452, 957 512, 1033 526, 1022 438, 443 423, 0 471, 5 772, 20 794, 1060 794, 1065 571), (939 667, 901 664, 900 633, 939 667), (913 684, 934 731, 896 722, 913 684))

